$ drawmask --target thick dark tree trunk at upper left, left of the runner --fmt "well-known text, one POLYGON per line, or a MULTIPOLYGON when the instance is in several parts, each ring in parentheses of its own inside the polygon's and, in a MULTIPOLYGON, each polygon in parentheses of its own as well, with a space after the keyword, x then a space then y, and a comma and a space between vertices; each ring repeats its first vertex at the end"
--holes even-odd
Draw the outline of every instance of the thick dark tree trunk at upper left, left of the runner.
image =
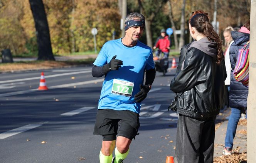
POLYGON ((42 0, 29 0, 29 3, 35 21, 38 47, 37 60, 55 60, 52 54, 51 38, 44 3, 42 0))

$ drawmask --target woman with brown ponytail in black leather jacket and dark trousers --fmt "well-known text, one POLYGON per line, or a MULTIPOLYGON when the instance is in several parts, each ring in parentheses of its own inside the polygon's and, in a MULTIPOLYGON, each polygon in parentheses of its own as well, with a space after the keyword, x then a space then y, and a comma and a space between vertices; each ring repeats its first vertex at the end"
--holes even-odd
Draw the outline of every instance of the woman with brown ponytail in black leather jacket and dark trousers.
POLYGON ((189 31, 195 41, 170 84, 173 92, 181 93, 175 153, 178 163, 212 163, 214 122, 223 107, 226 78, 222 40, 207 13, 190 16, 189 31))

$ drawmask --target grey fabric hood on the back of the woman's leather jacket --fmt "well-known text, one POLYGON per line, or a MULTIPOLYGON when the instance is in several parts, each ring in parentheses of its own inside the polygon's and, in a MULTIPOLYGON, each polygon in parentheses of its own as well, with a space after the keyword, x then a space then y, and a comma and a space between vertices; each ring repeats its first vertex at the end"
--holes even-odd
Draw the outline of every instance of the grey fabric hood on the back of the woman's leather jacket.
POLYGON ((192 44, 189 46, 188 51, 191 48, 197 48, 205 54, 211 56, 212 58, 217 58, 217 42, 209 41, 207 37, 192 42, 192 44))

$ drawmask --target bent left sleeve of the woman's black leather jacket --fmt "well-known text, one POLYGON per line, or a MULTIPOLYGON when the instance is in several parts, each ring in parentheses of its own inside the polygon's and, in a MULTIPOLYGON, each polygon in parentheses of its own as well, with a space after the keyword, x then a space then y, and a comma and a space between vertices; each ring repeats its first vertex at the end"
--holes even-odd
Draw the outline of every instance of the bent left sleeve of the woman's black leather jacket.
POLYGON ((170 89, 175 93, 188 91, 199 84, 195 70, 196 55, 193 55, 193 51, 194 50, 191 49, 187 53, 184 61, 184 69, 181 70, 171 81, 170 89))

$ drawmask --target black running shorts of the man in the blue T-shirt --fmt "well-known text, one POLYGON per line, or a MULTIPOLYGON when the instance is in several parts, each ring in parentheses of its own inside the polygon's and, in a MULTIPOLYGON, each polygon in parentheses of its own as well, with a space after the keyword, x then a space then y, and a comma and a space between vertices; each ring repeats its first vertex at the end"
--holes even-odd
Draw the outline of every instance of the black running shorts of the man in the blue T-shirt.
POLYGON ((102 135, 104 141, 116 140, 116 135, 135 139, 140 127, 139 116, 129 110, 99 109, 93 134, 102 135))

